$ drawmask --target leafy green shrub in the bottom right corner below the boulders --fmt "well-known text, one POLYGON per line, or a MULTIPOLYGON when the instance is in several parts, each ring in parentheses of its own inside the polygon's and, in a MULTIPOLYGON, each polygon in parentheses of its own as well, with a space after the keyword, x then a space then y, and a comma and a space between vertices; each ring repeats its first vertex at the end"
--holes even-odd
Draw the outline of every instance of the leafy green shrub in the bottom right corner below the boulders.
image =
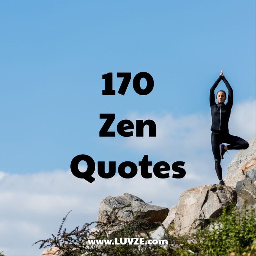
POLYGON ((195 235, 196 243, 187 243, 174 251, 174 255, 256 255, 255 210, 237 210, 231 206, 212 220, 212 229, 206 228, 195 235))

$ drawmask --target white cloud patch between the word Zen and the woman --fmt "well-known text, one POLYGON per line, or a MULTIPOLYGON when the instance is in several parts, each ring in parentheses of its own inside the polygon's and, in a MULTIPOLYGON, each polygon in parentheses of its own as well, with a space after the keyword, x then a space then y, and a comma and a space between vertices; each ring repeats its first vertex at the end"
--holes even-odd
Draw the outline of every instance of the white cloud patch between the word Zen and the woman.
POLYGON ((201 114, 174 118, 171 114, 158 117, 133 113, 129 119, 154 120, 157 126, 157 137, 148 137, 148 130, 145 129, 144 137, 130 137, 125 145, 137 150, 151 150, 161 155, 186 153, 186 149, 199 148, 206 144, 207 135, 209 135, 207 125, 210 119, 201 114))

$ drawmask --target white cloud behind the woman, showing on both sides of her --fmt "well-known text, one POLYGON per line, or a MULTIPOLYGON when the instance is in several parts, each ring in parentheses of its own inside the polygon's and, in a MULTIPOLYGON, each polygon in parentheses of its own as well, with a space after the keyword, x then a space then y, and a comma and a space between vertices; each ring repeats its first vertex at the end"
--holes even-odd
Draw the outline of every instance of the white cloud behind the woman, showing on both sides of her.
MULTIPOLYGON (((229 122, 230 134, 246 140, 255 135, 255 116, 255 101, 234 105, 229 122)), ((148 129, 145 129, 144 137, 126 138, 125 147, 133 148, 138 152, 147 150, 165 157, 182 155, 189 159, 197 158, 198 154, 202 157, 202 151, 207 151, 207 155, 211 151, 210 110, 207 115, 195 113, 177 118, 171 114, 158 117, 154 114, 131 113, 128 119, 134 123, 137 119, 154 120, 157 137, 148 137, 148 129)))

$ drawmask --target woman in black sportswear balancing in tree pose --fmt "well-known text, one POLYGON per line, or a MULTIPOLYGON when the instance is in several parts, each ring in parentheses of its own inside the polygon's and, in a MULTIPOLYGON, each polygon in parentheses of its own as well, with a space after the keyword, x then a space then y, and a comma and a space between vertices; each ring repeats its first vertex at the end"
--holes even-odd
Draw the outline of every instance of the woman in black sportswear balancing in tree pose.
POLYGON ((211 125, 211 147, 213 149, 215 170, 219 178, 219 184, 221 185, 225 185, 222 180, 221 168, 221 159, 223 159, 225 152, 229 149, 247 149, 249 146, 244 139, 229 134, 229 117, 232 105, 233 90, 221 71, 219 78, 210 89, 211 118, 213 121, 211 125), (226 97, 225 91, 218 91, 216 96, 218 104, 216 104, 214 90, 221 80, 224 81, 229 91, 229 96, 228 98, 226 97), (224 103, 226 98, 227 104, 224 103), (225 146, 222 143, 227 143, 229 145, 225 146))

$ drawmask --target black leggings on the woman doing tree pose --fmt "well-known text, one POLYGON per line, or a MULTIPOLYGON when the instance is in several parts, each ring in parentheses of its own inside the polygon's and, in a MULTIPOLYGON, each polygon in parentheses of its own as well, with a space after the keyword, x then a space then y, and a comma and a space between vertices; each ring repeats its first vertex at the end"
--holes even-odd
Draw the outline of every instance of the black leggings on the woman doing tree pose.
POLYGON ((222 143, 227 143, 227 149, 247 149, 249 144, 244 139, 230 135, 229 133, 211 133, 211 147, 213 149, 214 161, 215 161, 215 170, 217 176, 222 179, 222 168, 221 168, 221 154, 219 152, 219 145, 222 143))

